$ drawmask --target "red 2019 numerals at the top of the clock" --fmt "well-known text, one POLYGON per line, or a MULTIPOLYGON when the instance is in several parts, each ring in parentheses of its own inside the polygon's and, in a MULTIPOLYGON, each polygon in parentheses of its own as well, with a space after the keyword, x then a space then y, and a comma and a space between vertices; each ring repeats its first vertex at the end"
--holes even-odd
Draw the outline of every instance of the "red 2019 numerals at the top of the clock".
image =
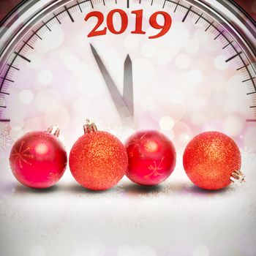
MULTIPOLYGON (((131 34, 146 34, 146 31, 143 31, 143 10, 134 10, 131 12, 132 14, 135 14, 135 30, 131 31, 131 34)), ((89 20, 91 17, 96 17, 97 18, 97 23, 94 26, 94 28, 89 32, 87 37, 96 37, 96 36, 102 36, 107 34, 107 31, 110 31, 112 34, 122 34, 124 31, 127 30, 128 27, 128 15, 124 10, 121 9, 114 9, 111 10, 108 15, 107 15, 107 26, 105 26, 103 29, 99 29, 99 26, 102 25, 104 22, 104 15, 102 12, 99 11, 94 11, 94 12, 89 12, 86 15, 86 18, 84 20, 89 20), (121 28, 119 30, 116 30, 113 24, 113 15, 118 13, 121 17, 121 28)), ((154 12, 151 17, 149 18, 149 24, 152 28, 154 29, 161 29, 161 31, 154 35, 148 37, 149 39, 154 39, 158 37, 162 37, 165 35, 169 30, 170 26, 172 24, 172 18, 167 12, 159 11, 159 12, 154 12), (159 15, 164 18, 164 23, 160 24, 157 20, 159 15)))

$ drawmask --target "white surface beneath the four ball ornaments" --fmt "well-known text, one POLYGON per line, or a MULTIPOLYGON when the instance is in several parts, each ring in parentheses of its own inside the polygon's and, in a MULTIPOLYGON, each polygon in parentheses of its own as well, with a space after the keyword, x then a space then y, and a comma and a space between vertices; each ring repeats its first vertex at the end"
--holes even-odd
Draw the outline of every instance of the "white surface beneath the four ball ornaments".
POLYGON ((246 183, 217 192, 194 187, 181 159, 159 187, 124 178, 105 192, 83 189, 69 170, 51 189, 28 189, 3 167, 0 255, 255 255, 256 157, 249 152, 246 183))

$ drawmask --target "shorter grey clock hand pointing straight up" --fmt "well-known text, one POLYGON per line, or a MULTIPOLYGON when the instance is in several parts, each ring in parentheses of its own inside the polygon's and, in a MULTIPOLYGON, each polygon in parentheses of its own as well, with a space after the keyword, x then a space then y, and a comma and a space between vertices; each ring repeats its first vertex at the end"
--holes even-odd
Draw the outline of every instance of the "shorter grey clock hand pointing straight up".
POLYGON ((132 61, 127 54, 127 59, 124 61, 124 102, 129 109, 131 115, 134 115, 133 107, 133 84, 132 84, 132 61))

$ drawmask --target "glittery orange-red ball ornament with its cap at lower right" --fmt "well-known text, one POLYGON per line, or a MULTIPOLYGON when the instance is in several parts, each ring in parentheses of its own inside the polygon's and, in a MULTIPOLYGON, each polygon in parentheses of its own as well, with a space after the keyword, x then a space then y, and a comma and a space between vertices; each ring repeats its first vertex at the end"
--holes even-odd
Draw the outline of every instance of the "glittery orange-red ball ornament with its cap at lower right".
POLYGON ((221 132, 195 136, 184 151, 183 165, 189 179, 203 189, 222 189, 236 179, 244 181, 239 148, 221 132))

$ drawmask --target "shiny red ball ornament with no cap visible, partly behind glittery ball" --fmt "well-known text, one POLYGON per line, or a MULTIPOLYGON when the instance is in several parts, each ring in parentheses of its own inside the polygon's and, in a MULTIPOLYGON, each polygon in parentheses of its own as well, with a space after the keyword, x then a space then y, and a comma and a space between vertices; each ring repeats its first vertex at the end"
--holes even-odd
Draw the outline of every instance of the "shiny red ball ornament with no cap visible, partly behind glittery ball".
POLYGON ((125 143, 127 177, 140 185, 154 186, 170 176, 176 165, 173 143, 155 130, 135 132, 125 143))

